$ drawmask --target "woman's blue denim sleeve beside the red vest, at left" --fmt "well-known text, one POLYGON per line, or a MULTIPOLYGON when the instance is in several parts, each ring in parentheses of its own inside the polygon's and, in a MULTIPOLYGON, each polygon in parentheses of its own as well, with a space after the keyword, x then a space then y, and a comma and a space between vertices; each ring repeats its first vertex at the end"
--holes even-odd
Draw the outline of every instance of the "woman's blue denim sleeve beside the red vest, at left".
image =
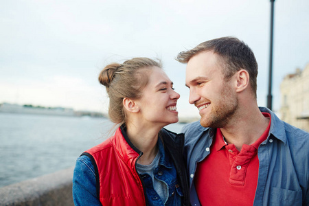
POLYGON ((84 155, 78 157, 73 172, 74 205, 101 205, 95 185, 95 172, 91 159, 84 155))

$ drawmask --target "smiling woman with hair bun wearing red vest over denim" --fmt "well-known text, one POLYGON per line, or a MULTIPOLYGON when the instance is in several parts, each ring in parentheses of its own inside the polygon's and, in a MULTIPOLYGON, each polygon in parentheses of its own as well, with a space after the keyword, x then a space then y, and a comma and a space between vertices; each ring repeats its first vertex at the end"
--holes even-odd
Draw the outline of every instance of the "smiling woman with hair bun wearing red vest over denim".
POLYGON ((183 134, 163 126, 178 122, 179 93, 161 64, 133 58, 107 65, 99 81, 110 99, 115 135, 76 161, 76 205, 189 205, 183 134))

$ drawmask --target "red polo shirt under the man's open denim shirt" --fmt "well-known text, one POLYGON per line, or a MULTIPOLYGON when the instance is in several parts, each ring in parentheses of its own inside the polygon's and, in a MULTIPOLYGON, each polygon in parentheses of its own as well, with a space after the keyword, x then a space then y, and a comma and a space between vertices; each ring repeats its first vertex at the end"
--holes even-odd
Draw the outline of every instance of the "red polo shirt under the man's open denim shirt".
POLYGON ((258 147, 267 138, 270 119, 262 136, 251 145, 244 144, 239 152, 227 144, 217 128, 210 154, 196 168, 194 183, 201 205, 253 205, 258 184, 258 147))

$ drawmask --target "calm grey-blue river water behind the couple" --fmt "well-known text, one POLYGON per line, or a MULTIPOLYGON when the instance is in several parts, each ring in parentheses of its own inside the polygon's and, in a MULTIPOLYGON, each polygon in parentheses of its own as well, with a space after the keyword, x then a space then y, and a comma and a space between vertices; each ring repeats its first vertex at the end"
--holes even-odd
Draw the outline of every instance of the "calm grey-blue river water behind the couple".
MULTIPOLYGON (((165 128, 180 133, 183 124, 165 128)), ((109 135, 105 118, 0 113, 0 187, 70 168, 109 135)))

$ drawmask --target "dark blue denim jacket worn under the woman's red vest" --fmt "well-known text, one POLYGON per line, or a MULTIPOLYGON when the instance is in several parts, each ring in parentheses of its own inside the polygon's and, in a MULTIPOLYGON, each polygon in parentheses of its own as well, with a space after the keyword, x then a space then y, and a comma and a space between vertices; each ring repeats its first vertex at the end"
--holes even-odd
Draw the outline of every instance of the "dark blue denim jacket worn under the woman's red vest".
MULTIPOLYGON (((176 170, 172 160, 165 155, 161 139, 158 139, 158 146, 161 158, 159 165, 155 168, 155 178, 164 181, 168 186, 168 201, 164 204, 161 198, 155 192, 152 179, 148 174, 141 174, 144 182, 148 205, 181 205, 181 196, 183 193, 176 179, 176 170)), ((75 205, 101 205, 97 196, 95 187, 95 170, 91 159, 87 156, 80 156, 76 161, 76 167, 73 174, 73 201, 75 205)))

